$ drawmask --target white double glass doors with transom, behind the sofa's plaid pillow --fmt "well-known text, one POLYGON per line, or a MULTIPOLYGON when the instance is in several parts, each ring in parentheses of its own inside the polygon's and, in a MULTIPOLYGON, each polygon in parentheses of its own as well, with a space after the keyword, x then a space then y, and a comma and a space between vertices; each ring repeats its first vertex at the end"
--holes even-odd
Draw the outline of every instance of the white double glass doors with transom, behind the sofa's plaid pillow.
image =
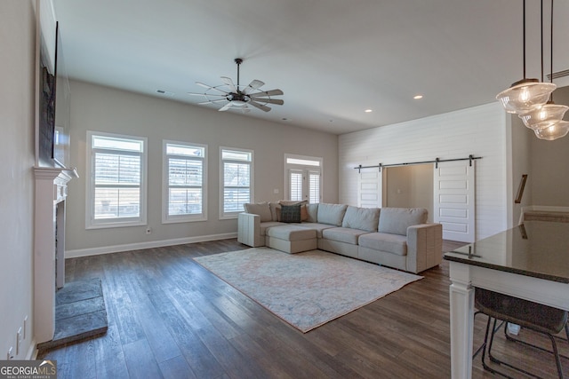
POLYGON ((284 154, 284 182, 289 200, 320 202, 322 158, 284 154))

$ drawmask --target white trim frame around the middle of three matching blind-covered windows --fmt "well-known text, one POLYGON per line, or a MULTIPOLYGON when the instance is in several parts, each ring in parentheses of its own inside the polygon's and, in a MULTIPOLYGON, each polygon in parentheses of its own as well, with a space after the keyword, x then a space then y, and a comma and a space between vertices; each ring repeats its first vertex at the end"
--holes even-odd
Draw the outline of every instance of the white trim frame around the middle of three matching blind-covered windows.
POLYGON ((194 144, 190 142, 173 141, 164 139, 162 142, 162 224, 187 223, 195 221, 207 221, 207 145, 194 144), (198 215, 168 216, 168 154, 166 146, 168 144, 180 146, 196 146, 204 148, 204 159, 202 167, 202 213, 198 215))

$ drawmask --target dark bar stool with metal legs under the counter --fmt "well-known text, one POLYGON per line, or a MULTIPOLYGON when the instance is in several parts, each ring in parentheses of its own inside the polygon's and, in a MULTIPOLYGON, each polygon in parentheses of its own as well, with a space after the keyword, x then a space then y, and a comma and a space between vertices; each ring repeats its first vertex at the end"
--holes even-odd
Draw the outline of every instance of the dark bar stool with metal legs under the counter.
MULTIPOLYGON (((496 332, 496 320, 504 321, 507 328, 508 323, 517 324, 522 328, 527 328, 535 332, 549 336, 551 345, 553 346, 552 352, 555 355, 557 364, 557 373, 560 378, 563 378, 563 369, 561 367, 561 360, 559 359, 559 352, 557 350, 557 343, 555 341, 554 335, 557 335, 560 331, 565 328, 565 334, 567 335, 567 341, 569 342, 569 327, 567 326, 567 312, 562 311, 557 308, 552 308, 547 305, 533 303, 524 299, 520 299, 513 296, 504 295, 498 292, 493 292, 484 288, 476 288, 475 290, 475 306, 479 312, 484 313, 488 316, 488 323, 486 324, 486 333, 483 344, 482 351, 482 365, 485 370, 492 372, 493 374, 498 374, 506 377, 500 371, 495 370, 492 367, 488 367, 485 362, 485 351, 486 346, 488 347, 488 357, 494 363, 498 363, 503 366, 511 367, 525 375, 531 375, 534 377, 539 377, 533 375, 532 373, 525 371, 520 367, 515 367, 507 362, 496 359, 492 355, 492 344, 493 337, 496 332), (493 320, 492 335, 490 336, 490 343, 488 344, 488 335, 490 334, 490 326, 493 320)), ((534 346, 531 343, 525 343, 534 346)), ((539 347, 538 347, 539 348, 539 347)), ((544 350, 542 348, 539 348, 544 350)))

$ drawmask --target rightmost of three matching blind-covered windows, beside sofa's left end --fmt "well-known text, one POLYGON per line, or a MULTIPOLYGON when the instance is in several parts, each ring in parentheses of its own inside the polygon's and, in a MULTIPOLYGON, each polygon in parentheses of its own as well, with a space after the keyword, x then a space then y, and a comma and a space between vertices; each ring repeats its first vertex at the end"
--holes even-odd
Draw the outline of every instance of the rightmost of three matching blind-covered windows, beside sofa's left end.
POLYGON ((220 155, 220 218, 235 218, 253 198, 252 151, 221 147, 220 155))

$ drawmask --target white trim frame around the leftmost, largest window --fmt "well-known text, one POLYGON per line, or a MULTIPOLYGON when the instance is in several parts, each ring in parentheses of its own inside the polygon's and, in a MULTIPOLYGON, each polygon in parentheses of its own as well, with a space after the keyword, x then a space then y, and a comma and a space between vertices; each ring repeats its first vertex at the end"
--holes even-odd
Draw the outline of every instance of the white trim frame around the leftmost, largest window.
POLYGON ((126 226, 147 225, 147 193, 148 193, 148 138, 138 136, 128 136, 124 134, 106 133, 102 131, 87 130, 86 145, 86 164, 85 164, 85 229, 105 229, 126 226), (94 183, 92 173, 92 137, 101 136, 109 138, 125 138, 142 141, 142 154, 140 154, 140 216, 116 220, 95 220, 94 213, 94 183))

